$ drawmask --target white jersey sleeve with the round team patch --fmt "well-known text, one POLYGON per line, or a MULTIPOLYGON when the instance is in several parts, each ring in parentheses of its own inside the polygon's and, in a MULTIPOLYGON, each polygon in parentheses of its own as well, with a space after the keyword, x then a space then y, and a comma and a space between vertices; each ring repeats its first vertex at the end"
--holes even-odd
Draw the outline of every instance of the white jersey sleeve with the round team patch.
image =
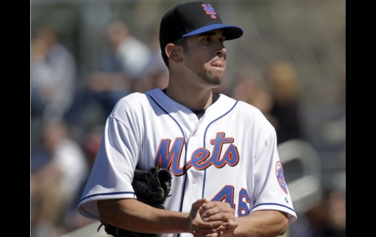
POLYGON ((255 153, 253 207, 251 212, 277 210, 288 214, 289 225, 296 219, 277 152, 277 138, 271 129, 255 153))

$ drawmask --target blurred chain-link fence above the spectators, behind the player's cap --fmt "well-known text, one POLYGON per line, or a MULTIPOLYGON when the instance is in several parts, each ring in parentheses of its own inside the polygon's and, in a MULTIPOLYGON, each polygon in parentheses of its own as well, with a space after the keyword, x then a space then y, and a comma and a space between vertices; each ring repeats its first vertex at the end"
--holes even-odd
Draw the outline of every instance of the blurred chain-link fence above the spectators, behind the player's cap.
MULTIPOLYGON (((31 35, 51 24, 71 50, 79 66, 79 80, 96 69, 105 25, 124 20, 131 32, 151 43, 152 29, 179 1, 31 1, 31 35)), ((292 62, 298 72, 301 101, 305 106, 338 103, 344 93, 344 0, 212 0, 223 22, 239 25, 244 36, 226 43, 228 73, 254 66, 265 72, 275 61, 292 62)))

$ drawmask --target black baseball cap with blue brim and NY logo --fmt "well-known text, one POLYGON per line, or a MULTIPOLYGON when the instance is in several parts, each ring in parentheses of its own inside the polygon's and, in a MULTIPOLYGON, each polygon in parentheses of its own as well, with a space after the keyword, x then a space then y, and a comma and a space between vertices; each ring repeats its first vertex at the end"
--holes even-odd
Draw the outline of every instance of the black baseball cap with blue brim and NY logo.
POLYGON ((243 35, 242 28, 223 24, 210 4, 202 1, 182 3, 163 16, 159 30, 159 43, 164 51, 168 43, 179 38, 217 29, 224 30, 225 40, 234 40, 243 35))

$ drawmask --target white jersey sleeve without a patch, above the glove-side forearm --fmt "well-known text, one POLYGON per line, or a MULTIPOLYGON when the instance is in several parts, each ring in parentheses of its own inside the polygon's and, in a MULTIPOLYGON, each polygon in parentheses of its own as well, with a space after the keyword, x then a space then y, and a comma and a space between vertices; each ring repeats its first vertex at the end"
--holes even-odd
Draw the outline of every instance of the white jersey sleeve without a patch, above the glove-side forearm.
POLYGON ((97 201, 136 198, 132 188, 139 148, 129 125, 110 115, 107 118, 98 155, 86 183, 78 211, 99 220, 97 201))

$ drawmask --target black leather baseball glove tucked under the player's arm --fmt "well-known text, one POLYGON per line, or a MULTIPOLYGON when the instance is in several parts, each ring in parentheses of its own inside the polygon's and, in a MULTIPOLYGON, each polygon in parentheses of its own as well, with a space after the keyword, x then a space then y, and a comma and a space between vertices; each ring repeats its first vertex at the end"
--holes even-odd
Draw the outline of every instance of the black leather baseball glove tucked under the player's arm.
MULTIPOLYGON (((165 209, 163 202, 171 190, 171 173, 163 168, 151 167, 148 171, 135 170, 132 181, 133 190, 137 200, 159 209, 165 209)), ((155 237, 155 234, 138 233, 115 227, 104 225, 104 230, 108 235, 115 237, 155 237)))

